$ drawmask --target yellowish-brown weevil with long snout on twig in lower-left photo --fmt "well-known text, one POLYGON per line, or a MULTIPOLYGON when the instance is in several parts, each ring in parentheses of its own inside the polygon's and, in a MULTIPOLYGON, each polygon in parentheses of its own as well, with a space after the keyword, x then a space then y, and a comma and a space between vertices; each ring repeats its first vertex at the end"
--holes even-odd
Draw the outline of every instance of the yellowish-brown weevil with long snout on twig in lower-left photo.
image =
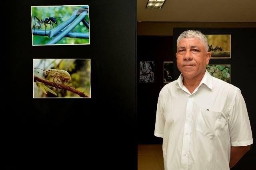
MULTIPOLYGON (((38 69, 43 70, 41 68, 38 68, 38 69)), ((46 74, 51 73, 52 74, 52 81, 54 82, 54 79, 56 78, 57 79, 56 83, 58 81, 60 82, 60 80, 65 80, 66 86, 68 86, 68 82, 71 81, 70 74, 67 71, 65 71, 65 70, 50 69, 50 70, 47 70, 47 71, 44 70, 44 71, 40 71, 40 72, 45 72, 46 74)))

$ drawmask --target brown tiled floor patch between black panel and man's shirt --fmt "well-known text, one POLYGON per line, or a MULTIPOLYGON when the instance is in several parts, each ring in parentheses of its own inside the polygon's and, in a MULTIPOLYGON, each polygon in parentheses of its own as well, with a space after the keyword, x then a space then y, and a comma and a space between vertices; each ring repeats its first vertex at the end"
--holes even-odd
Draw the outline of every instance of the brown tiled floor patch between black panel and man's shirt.
POLYGON ((138 145, 138 170, 164 170, 162 145, 138 145))

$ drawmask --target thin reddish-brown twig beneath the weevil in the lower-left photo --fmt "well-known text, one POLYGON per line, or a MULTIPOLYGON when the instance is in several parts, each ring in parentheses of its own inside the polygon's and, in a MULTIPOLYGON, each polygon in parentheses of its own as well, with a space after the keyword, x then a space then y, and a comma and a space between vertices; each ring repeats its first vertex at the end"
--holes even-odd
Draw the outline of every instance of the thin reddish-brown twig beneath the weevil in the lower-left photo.
POLYGON ((80 97, 82 98, 90 98, 89 96, 87 96, 86 94, 84 94, 84 92, 81 92, 79 90, 76 90, 75 88, 72 88, 71 86, 65 86, 63 84, 60 84, 60 83, 54 83, 54 82, 50 82, 49 80, 45 80, 45 79, 42 79, 42 78, 39 78, 37 76, 34 76, 34 82, 36 82, 36 80, 38 82, 42 82, 44 83, 45 85, 47 86, 52 86, 52 87, 55 87, 55 88, 61 88, 61 89, 64 89, 64 90, 68 90, 70 92, 73 92, 75 94, 78 94, 80 97))

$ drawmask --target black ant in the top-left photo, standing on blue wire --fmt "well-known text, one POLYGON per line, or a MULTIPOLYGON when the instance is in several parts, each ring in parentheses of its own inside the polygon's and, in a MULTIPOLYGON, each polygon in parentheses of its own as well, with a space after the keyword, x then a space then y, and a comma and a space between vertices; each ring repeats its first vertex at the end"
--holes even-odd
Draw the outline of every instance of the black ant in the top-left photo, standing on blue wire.
MULTIPOLYGON (((63 18, 63 17, 57 17, 57 18, 63 18)), ((57 20, 56 20, 57 18, 54 18, 54 17, 46 17, 46 18, 40 20, 39 18, 37 18, 36 16, 34 16, 34 25, 33 25, 32 29, 34 28, 34 31, 35 31, 36 28, 40 29, 40 28, 41 28, 41 25, 42 25, 42 23, 43 23, 44 26, 45 26, 45 35, 46 35, 46 27, 47 27, 46 24, 50 24, 50 29, 51 29, 51 24, 52 24, 52 27, 54 28, 53 23, 55 23, 56 25, 58 25, 57 20), (37 19, 37 21, 35 21, 35 18, 37 19), (52 21, 53 23, 52 23, 51 21, 52 21)), ((58 19, 58 20, 60 20, 60 19, 58 19)), ((62 21, 62 20, 60 20, 60 21, 62 21)), ((64 22, 64 21, 62 21, 62 22, 64 22)))

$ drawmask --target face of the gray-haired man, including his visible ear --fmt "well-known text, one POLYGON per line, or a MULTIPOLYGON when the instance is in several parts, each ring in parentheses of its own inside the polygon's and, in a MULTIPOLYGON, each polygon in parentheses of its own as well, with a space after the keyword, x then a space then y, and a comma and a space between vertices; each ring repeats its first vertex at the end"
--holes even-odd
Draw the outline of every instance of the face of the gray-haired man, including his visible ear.
POLYGON ((184 38, 178 43, 177 66, 184 78, 202 78, 210 57, 211 53, 206 53, 204 45, 200 43, 199 39, 184 38))

